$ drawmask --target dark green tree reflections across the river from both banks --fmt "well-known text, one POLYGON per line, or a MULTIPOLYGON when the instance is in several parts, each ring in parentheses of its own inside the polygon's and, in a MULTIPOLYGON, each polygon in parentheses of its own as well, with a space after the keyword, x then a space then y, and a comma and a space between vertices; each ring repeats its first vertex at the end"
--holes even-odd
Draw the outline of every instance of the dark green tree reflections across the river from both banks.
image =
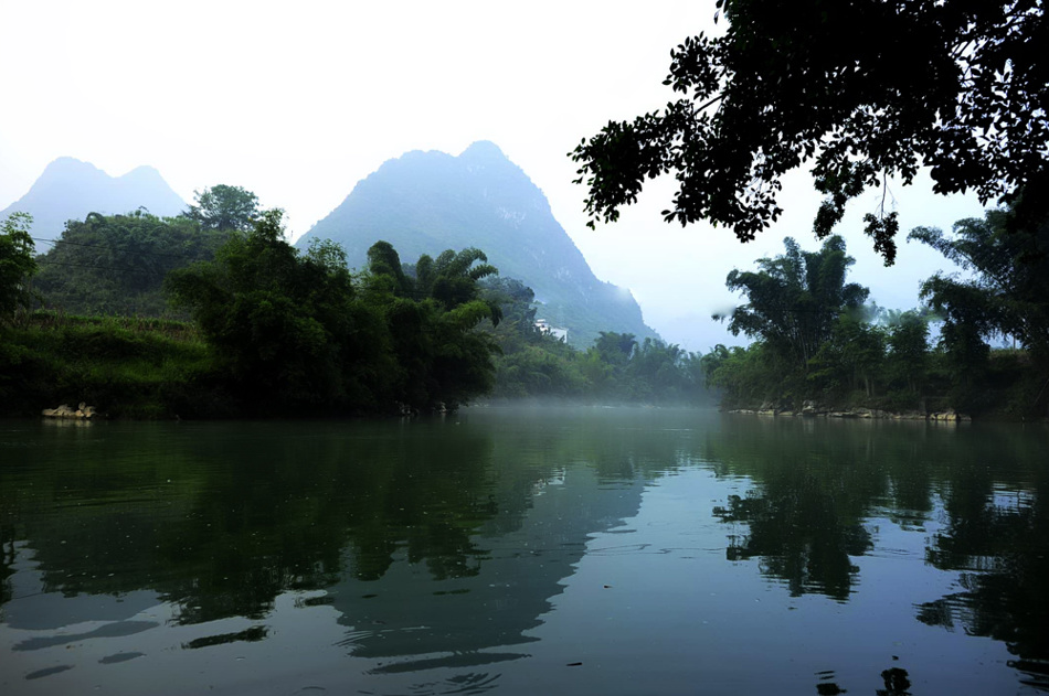
MULTIPOLYGON (((596 490, 702 460, 720 477, 752 482, 717 512, 740 527, 729 557, 757 559, 793 593, 847 599, 852 557, 872 540, 865 521, 921 527, 942 499, 946 526, 928 559, 962 572, 963 588, 922 606, 920 618, 1003 640, 1026 661, 1049 658, 1043 438, 756 418, 668 436, 659 411, 614 414, 612 427, 604 416, 566 422, 537 414, 498 431, 469 428, 467 418, 455 428, 193 426, 178 437, 161 428, 173 439, 159 452, 146 426, 97 442, 75 433, 76 447, 46 452, 50 468, 0 468, 0 601, 11 598, 3 578, 17 540, 28 540, 45 591, 152 589, 181 606, 183 622, 261 617, 288 589, 375 580, 402 558, 432 579, 480 582, 495 543, 486 539, 520 527, 565 470, 591 470, 596 490), (999 492, 1018 490, 1027 493, 999 492)), ((598 500, 572 500, 573 520, 595 522, 590 528, 580 523, 570 534, 549 516, 563 536, 551 543, 585 540, 625 514, 622 505, 598 510, 598 500)), ((550 577, 568 574, 573 558, 562 554, 550 577)), ((549 597, 555 581, 530 592, 549 597)), ((532 604, 520 613, 537 615, 532 604)))

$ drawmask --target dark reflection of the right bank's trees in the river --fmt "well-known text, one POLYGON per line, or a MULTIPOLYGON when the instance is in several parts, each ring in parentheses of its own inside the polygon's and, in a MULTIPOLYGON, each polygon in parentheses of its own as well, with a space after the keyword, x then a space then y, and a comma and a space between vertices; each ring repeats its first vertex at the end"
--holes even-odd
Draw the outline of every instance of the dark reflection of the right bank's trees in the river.
POLYGON ((728 419, 704 442, 720 475, 754 483, 714 508, 746 525, 730 536, 730 560, 760 558, 792 593, 845 599, 856 574, 849 556, 871 548, 862 521, 921 528, 939 496, 946 526, 926 561, 960 572, 962 591, 921 604, 918 619, 1005 642, 1015 666, 1049 687, 1043 430, 755 420, 728 419))

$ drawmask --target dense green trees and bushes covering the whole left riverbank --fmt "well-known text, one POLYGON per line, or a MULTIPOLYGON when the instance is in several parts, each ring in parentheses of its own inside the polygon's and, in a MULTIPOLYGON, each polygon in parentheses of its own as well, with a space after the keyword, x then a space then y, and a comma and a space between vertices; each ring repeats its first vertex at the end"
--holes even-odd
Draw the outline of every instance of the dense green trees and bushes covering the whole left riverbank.
POLYGON ((178 217, 92 214, 35 260, 12 218, 2 239, 28 245, 4 257, 21 264, 8 263, 6 287, 23 310, 4 314, 4 411, 86 401, 127 417, 407 414, 488 395, 709 398, 699 356, 676 345, 601 332, 580 351, 543 333, 534 292, 479 249, 404 264, 379 242, 351 272, 339 245, 294 248, 282 212, 254 201, 225 186, 178 217), (33 298, 43 309, 27 315, 33 298))

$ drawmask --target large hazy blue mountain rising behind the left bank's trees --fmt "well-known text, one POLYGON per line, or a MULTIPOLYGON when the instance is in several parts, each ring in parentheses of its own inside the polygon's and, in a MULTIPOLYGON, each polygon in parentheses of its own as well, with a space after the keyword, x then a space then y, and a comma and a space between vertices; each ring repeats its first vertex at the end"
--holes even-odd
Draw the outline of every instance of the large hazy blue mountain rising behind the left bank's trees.
POLYGON ((554 219, 542 191, 491 142, 460 156, 413 151, 385 162, 298 242, 341 244, 351 267, 367 265, 379 239, 401 260, 477 247, 504 277, 517 278, 543 303, 539 317, 589 346, 598 331, 656 338, 626 290, 598 280, 554 219))

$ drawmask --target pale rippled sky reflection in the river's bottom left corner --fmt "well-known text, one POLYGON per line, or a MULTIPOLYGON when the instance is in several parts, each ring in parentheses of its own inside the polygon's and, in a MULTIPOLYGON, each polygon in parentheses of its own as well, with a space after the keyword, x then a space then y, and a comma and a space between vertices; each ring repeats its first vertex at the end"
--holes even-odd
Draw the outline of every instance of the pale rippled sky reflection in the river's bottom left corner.
POLYGON ((250 630, 258 622, 226 619, 178 625, 177 608, 162 603, 124 621, 85 622, 56 631, 0 631, 0 650, 6 655, 0 676, 12 687, 6 690, 10 694, 76 694, 95 686, 116 694, 293 693, 309 686, 301 682, 305 675, 338 671, 343 654, 337 645, 342 632, 333 610, 304 608, 296 601, 300 599, 296 593, 277 598, 262 622, 272 629, 266 640, 201 649, 189 646, 250 630), (125 634, 123 627, 142 630, 125 634), (68 642, 45 646, 60 640, 68 642), (24 679, 27 674, 55 666, 72 668, 24 679), (283 685, 290 688, 273 690, 278 684, 280 689, 283 685))

